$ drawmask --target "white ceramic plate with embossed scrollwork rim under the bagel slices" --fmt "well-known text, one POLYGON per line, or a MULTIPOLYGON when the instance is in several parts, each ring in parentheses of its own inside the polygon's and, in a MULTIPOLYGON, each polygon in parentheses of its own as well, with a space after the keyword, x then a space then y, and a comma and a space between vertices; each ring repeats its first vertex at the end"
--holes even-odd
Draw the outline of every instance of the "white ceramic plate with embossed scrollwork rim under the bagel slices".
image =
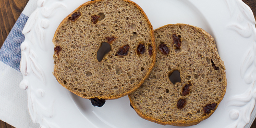
MULTIPOLYGON (((217 44, 226 66, 227 92, 212 116, 191 127, 244 127, 256 98, 255 20, 241 0, 133 0, 148 15, 153 28, 187 23, 203 28, 217 44)), ((84 0, 39 0, 23 30, 20 88, 28 93, 28 107, 41 127, 175 127, 140 118, 128 97, 93 107, 61 86, 53 76, 52 43, 59 23, 84 0)), ((254 117, 253 117, 254 118, 254 117)))

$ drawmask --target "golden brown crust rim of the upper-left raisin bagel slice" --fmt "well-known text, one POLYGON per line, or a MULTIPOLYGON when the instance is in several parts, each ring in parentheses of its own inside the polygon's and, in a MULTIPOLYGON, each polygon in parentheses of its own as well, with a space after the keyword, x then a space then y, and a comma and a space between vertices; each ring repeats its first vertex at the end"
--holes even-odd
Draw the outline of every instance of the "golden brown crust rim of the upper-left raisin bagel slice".
MULTIPOLYGON (((68 18, 69 18, 72 14, 74 14, 75 12, 77 12, 77 10, 79 10, 80 8, 82 8, 82 7, 84 7, 84 6, 91 5, 91 4, 94 4, 94 3, 96 3, 96 2, 100 2, 100 1, 105 1, 105 0, 96 0, 96 1, 89 1, 89 2, 86 2, 86 3, 82 4, 82 5, 80 5, 80 6, 79 6, 77 9, 75 9, 73 12, 71 12, 71 14, 69 14, 69 15, 59 24, 59 26, 58 26, 58 28, 57 28, 55 34, 54 34, 53 42, 54 42, 54 39, 56 38, 56 36, 57 36, 57 34, 58 34, 58 30, 60 29, 60 27, 62 27, 62 25, 68 20, 68 18)), ((150 23, 150 21, 149 21, 147 15, 146 15, 145 12, 142 10, 142 8, 141 8, 139 5, 137 5, 136 3, 132 2, 132 1, 129 1, 129 0, 123 0, 123 1, 128 2, 128 3, 131 3, 132 5, 136 6, 136 7, 141 11, 141 13, 143 14, 144 18, 147 20, 147 23, 148 23, 149 26, 150 26, 149 29, 151 30, 151 41, 152 41, 152 44, 153 44, 153 45, 152 45, 152 47, 153 47, 153 54, 152 54, 152 57, 151 57, 151 58, 153 58, 153 59, 152 59, 152 60, 153 60, 153 62, 152 62, 153 65, 149 68, 149 71, 147 72, 147 74, 145 75, 145 77, 141 80, 141 82, 140 82, 136 87, 134 87, 133 89, 131 89, 130 91, 128 91, 128 92, 126 92, 126 93, 124 93, 124 94, 121 94, 121 95, 119 95, 119 96, 114 96, 114 97, 112 97, 112 96, 98 96, 98 97, 97 97, 97 98, 101 98, 101 99, 117 99, 117 98, 126 96, 126 95, 128 95, 128 94, 134 92, 137 88, 140 87, 140 85, 145 81, 145 79, 148 78, 148 76, 150 75, 151 70, 152 70, 153 67, 154 67, 154 63, 155 63, 155 59, 156 59, 156 50, 155 50, 155 49, 156 49, 156 46, 155 46, 155 43, 154 43, 154 31, 153 31, 153 27, 152 27, 152 25, 151 25, 151 23, 150 23)), ((80 18, 80 17, 79 17, 79 18, 80 18)), ((55 44, 54 44, 54 45, 55 45, 55 44)), ((54 47, 56 47, 56 46, 54 46, 54 47)), ((56 67, 54 67, 54 72, 53 72, 54 76, 56 77, 56 80, 57 80, 62 86, 64 86, 65 88, 67 88, 70 92, 75 93, 76 95, 78 95, 78 96, 80 96, 80 97, 82 97, 82 98, 87 98, 87 99, 95 98, 95 97, 84 96, 84 95, 82 95, 82 94, 77 93, 77 92, 74 91, 73 89, 67 87, 65 84, 63 84, 62 80, 60 80, 60 79, 57 77, 57 75, 55 74, 55 71, 56 71, 56 67)))

